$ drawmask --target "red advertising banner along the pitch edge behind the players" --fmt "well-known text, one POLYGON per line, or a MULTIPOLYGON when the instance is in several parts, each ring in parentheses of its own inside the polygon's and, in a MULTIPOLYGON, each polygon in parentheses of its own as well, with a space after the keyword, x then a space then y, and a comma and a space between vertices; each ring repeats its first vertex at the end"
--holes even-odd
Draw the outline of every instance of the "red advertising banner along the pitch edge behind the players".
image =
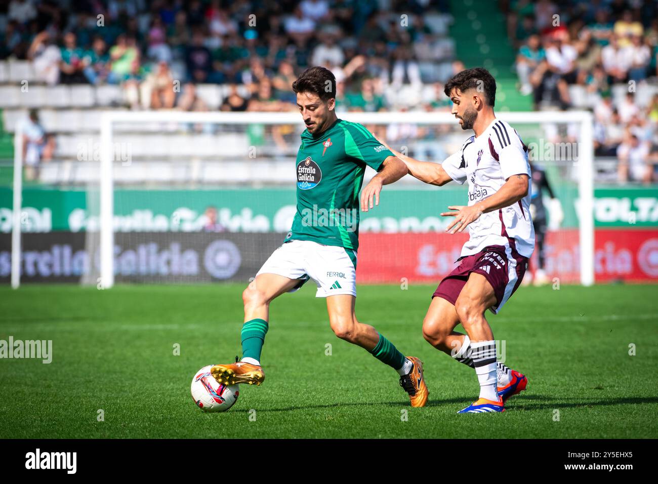
MULTIPOLYGON (((438 283, 454 267, 464 234, 363 233, 359 236, 357 281, 438 283)), ((658 282, 658 230, 598 229, 595 232, 596 282, 658 282)), ((548 232, 545 272, 563 283, 580 281, 578 229, 548 232)), ((537 250, 530 269, 536 267, 537 250)))

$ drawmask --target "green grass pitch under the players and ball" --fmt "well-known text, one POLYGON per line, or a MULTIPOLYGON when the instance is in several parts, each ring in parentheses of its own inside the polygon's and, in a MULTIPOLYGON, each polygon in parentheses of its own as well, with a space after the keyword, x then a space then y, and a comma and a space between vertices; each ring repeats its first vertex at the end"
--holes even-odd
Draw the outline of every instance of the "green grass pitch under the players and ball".
POLYGON ((272 303, 265 383, 241 385, 220 414, 195 406, 190 382, 240 354, 241 284, 3 287, 0 339, 52 340, 53 361, 0 360, 0 437, 655 438, 657 288, 520 288, 488 319, 528 389, 503 414, 457 415, 478 381, 422 338, 434 286, 357 289, 361 321, 424 361, 425 408, 409 406, 393 369, 334 336, 309 283, 272 303))

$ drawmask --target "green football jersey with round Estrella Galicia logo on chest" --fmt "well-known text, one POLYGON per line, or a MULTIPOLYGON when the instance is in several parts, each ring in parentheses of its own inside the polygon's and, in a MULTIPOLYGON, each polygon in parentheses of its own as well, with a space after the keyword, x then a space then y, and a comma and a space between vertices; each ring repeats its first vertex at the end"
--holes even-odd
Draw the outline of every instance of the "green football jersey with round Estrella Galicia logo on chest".
POLYGON ((356 122, 336 120, 301 134, 297 153, 297 212, 288 240, 359 248, 359 192, 366 165, 376 171, 393 153, 356 122))

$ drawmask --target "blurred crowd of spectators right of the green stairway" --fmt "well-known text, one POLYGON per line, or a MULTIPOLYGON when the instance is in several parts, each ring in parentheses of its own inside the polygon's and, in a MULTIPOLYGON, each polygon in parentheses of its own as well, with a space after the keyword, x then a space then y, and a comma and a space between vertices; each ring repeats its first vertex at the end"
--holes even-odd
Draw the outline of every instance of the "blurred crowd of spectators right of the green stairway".
POLYGON ((617 157, 619 180, 657 180, 658 95, 638 105, 636 92, 656 86, 658 3, 503 4, 508 36, 518 48, 520 92, 532 95, 535 109, 592 109, 595 153, 617 157), (617 102, 611 92, 615 85, 626 86, 626 95, 617 102))

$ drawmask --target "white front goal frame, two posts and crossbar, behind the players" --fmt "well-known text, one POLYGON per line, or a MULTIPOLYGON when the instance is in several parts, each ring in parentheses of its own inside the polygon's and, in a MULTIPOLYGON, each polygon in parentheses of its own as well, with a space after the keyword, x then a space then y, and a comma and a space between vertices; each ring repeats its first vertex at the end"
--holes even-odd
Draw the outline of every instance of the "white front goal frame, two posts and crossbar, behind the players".
MULTIPOLYGON (((364 125, 410 124, 417 126, 451 126, 456 129, 455 117, 449 112, 378 112, 378 113, 338 113, 341 119, 359 122, 364 125)), ((578 266, 580 284, 594 284, 594 130, 592 114, 588 111, 540 111, 540 112, 509 112, 501 111, 497 117, 509 122, 519 132, 523 126, 565 125, 578 128, 577 155, 569 163, 569 173, 572 174, 577 194, 574 209, 578 223, 578 255, 575 264, 578 266)), ((216 124, 230 128, 247 129, 249 125, 281 125, 295 126, 297 136, 303 130, 299 113, 191 113, 178 111, 106 111, 101 115, 100 126, 100 277, 103 288, 111 288, 115 281, 114 268, 114 142, 116 126, 139 126, 154 124, 216 124)), ((522 133, 521 133, 522 134, 522 133)), ((466 133, 464 133, 466 137, 466 133)), ((540 134, 540 136, 544 136, 540 134)), ((522 134, 523 138, 523 134, 522 134)), ((299 138, 297 138, 299 139, 299 138)), ((543 138, 542 138, 543 139, 543 138)), ((525 140, 524 140, 525 141, 525 140)), ((391 146, 394 143, 387 140, 391 146)), ((430 142, 432 142, 430 140, 430 142)), ((436 140, 440 142, 440 140, 436 140)), ((527 144, 527 143, 526 143, 527 144)), ((195 146, 189 146, 190 156, 193 156, 195 146)), ((410 153, 411 154, 411 153, 410 153)), ((447 153, 451 154, 451 153, 447 153)), ((291 182, 292 183, 292 182, 291 182)), ((287 230, 287 229, 286 229, 287 230)))

